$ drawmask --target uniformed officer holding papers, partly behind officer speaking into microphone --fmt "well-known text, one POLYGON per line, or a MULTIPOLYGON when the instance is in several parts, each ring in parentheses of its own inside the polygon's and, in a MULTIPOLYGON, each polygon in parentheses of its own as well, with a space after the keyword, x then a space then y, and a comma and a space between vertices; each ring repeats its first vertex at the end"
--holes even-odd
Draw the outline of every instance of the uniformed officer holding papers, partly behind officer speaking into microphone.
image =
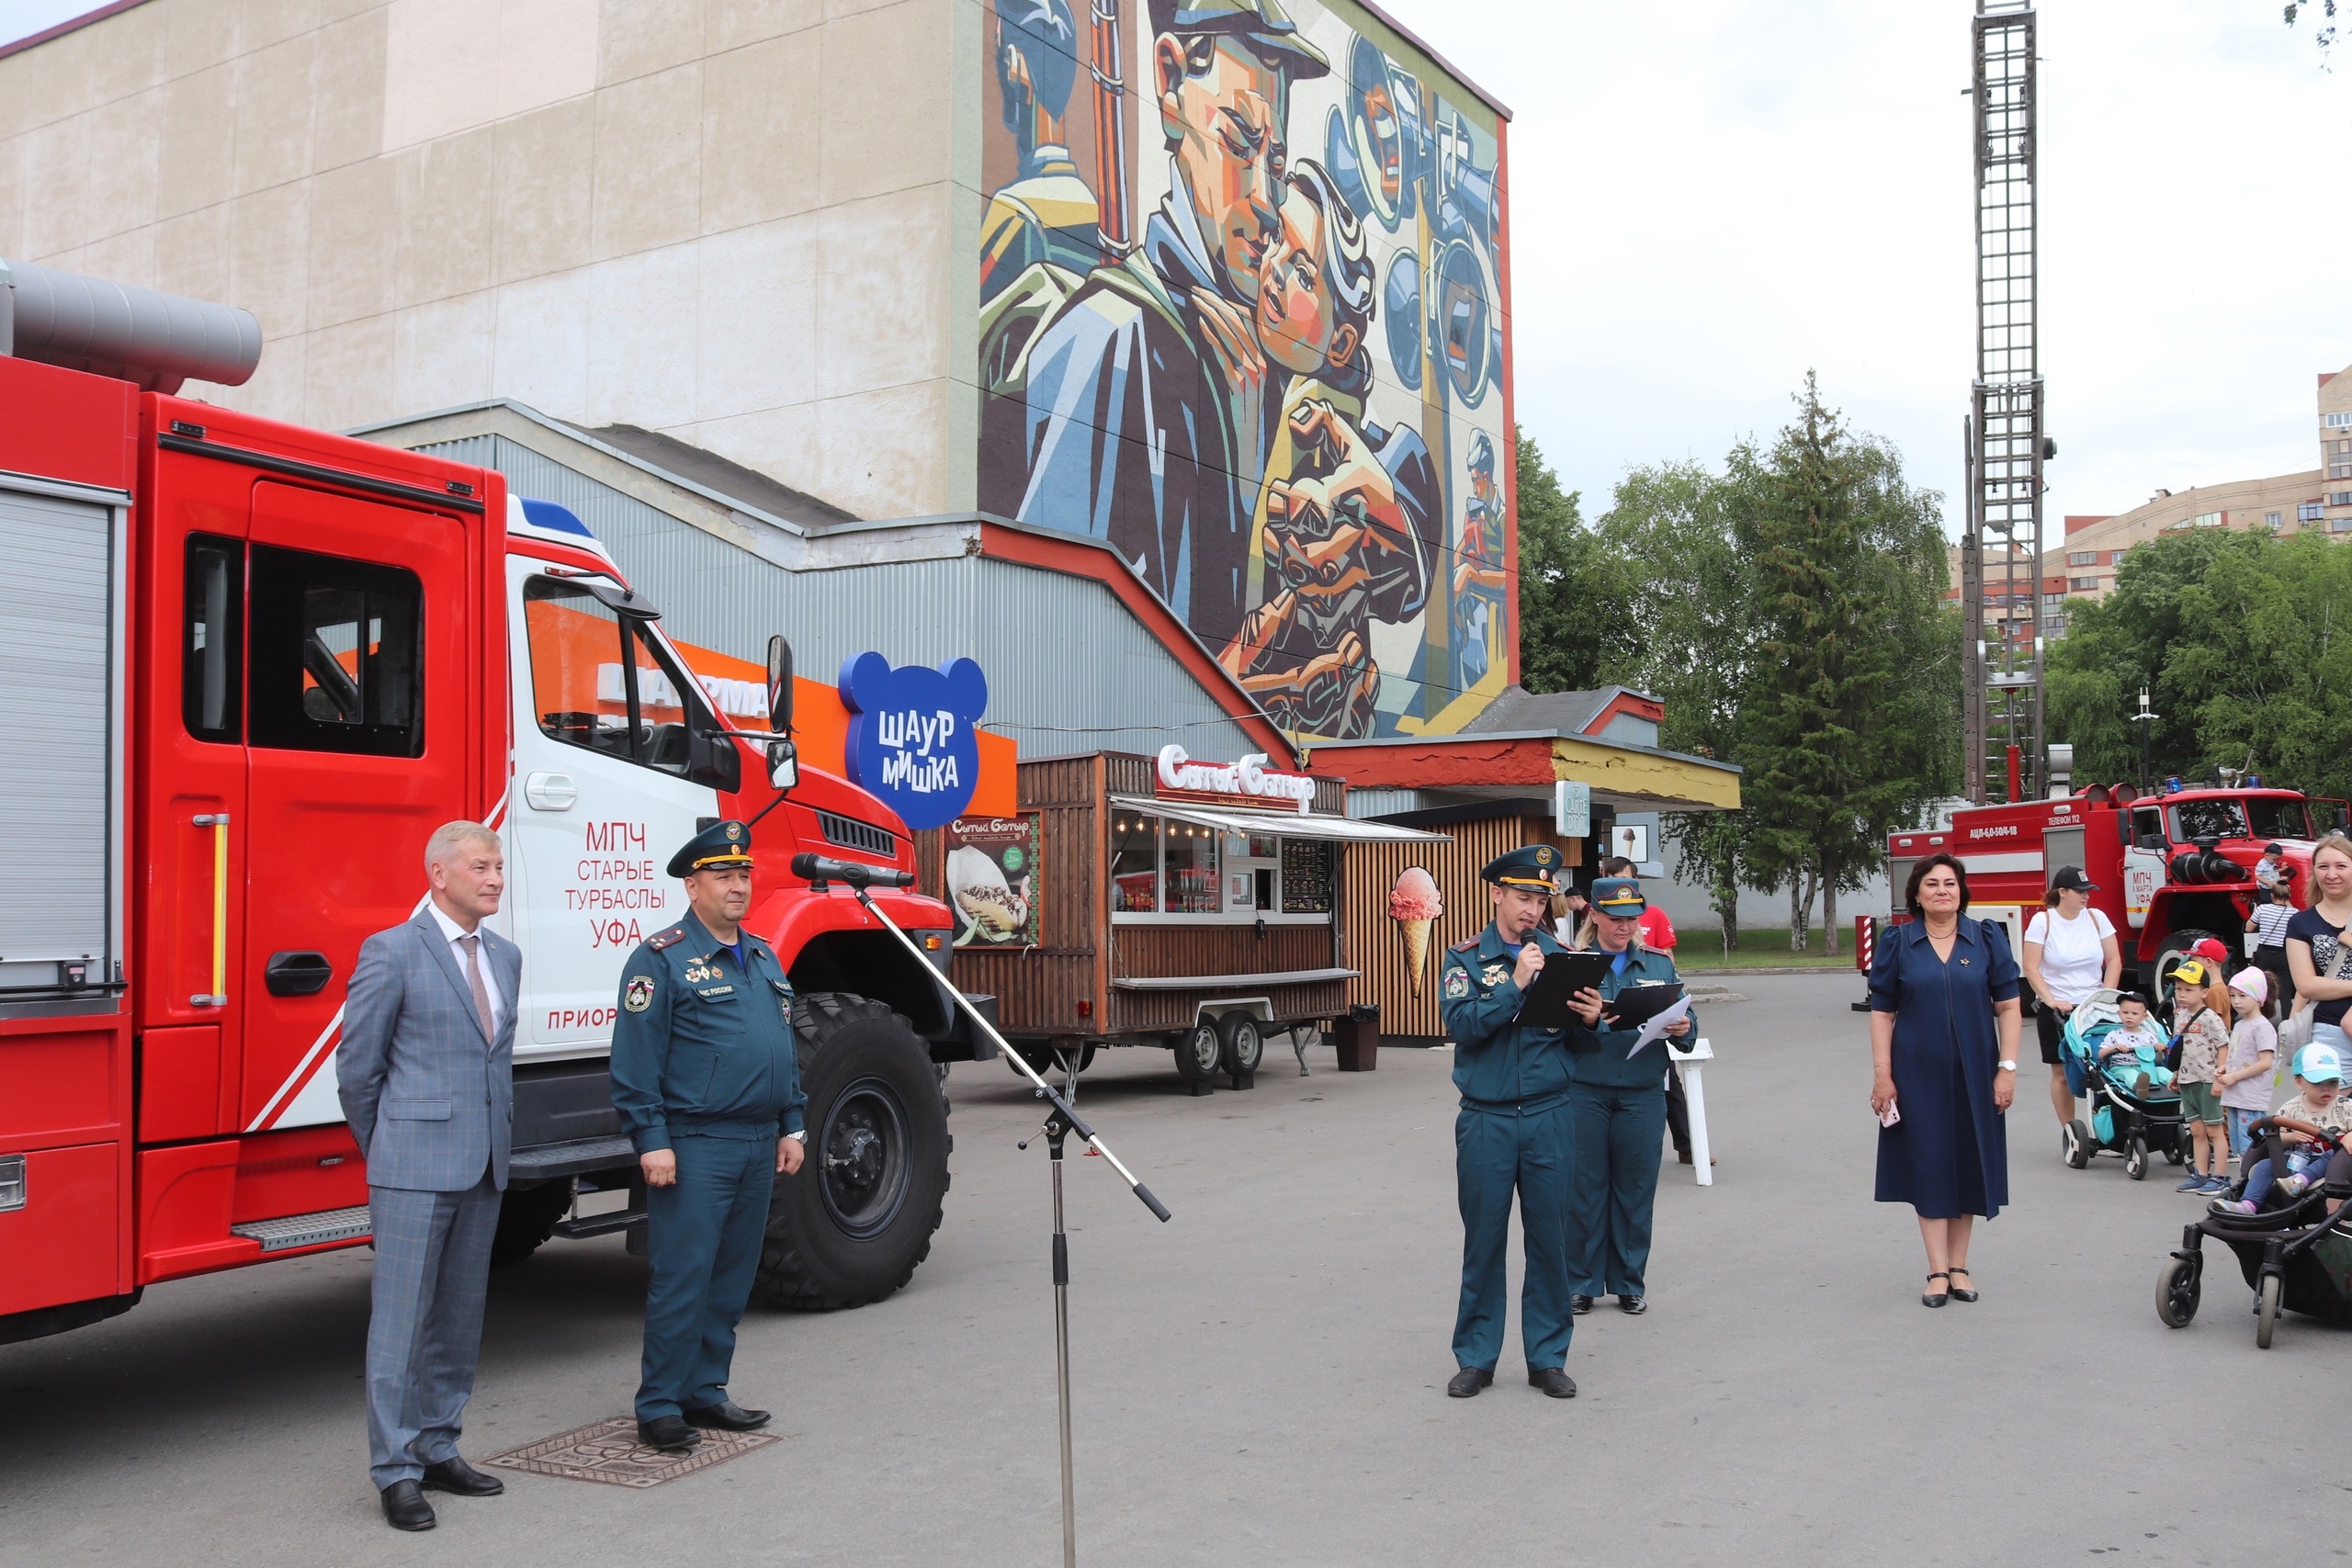
MULTIPOLYGON (((1569 1027, 1573 1051, 1569 1114, 1576 1124, 1576 1180, 1569 1190, 1569 1284, 1578 1314, 1595 1295, 1616 1295, 1621 1312, 1646 1312, 1642 1272, 1649 1267, 1649 1220, 1658 1204, 1658 1147, 1665 1133, 1665 1041, 1632 1051, 1637 1025, 1616 1027, 1609 1004, 1632 985, 1675 980, 1672 954, 1642 945, 1639 922, 1649 900, 1632 877, 1592 884, 1585 931, 1613 954, 1597 992, 1571 1004, 1583 1025, 1569 1027), (1630 1056, 1628 1056, 1630 1053, 1630 1056)), ((1684 1039, 1693 1018, 1668 1025, 1684 1039)))

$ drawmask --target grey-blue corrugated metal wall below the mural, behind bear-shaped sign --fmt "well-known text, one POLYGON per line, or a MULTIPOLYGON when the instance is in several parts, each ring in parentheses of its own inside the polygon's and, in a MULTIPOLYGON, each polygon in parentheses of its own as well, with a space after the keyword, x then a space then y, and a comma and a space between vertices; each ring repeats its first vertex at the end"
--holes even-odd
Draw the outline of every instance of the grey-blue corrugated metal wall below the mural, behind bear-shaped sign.
POLYGON ((1030 757, 1169 741, 1195 757, 1258 750, 1101 583, 981 555, 788 571, 503 435, 419 451, 496 468, 517 496, 579 512, 684 642, 760 663, 783 632, 800 672, 823 682, 868 649, 898 665, 969 656, 988 670, 983 724, 1030 757))

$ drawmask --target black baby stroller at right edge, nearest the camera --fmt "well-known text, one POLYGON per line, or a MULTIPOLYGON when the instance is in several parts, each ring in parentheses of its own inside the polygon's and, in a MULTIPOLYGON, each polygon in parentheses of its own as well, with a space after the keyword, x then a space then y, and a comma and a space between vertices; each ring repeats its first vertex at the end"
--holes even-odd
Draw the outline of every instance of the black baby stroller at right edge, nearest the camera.
MULTIPOLYGON (((2251 1131, 2265 1133, 2270 1126, 2310 1133, 2328 1150, 2345 1147, 2338 1133, 2310 1121, 2274 1124, 2265 1117, 2251 1131)), ((2328 1201, 2338 1197, 2343 1194, 2331 1194, 2326 1182, 2314 1182, 2263 1213, 2209 1213, 2197 1220, 2180 1234, 2180 1251, 2157 1276, 2157 1316, 2166 1328, 2187 1328, 2197 1316, 2204 1239, 2213 1237, 2237 1253, 2237 1267, 2253 1286, 2256 1347, 2270 1349, 2281 1307, 2331 1324, 2352 1324, 2352 1204, 2331 1215, 2328 1201)))

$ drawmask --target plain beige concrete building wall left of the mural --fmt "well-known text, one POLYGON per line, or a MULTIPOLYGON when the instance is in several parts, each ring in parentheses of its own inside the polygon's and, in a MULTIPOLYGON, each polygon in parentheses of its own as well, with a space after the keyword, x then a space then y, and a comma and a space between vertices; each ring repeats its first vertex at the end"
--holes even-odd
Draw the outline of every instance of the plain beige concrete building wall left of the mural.
POLYGON ((0 59, 0 256, 254 310, 254 381, 188 388, 228 407, 503 395, 861 517, 969 508, 971 16, 148 0, 0 59))

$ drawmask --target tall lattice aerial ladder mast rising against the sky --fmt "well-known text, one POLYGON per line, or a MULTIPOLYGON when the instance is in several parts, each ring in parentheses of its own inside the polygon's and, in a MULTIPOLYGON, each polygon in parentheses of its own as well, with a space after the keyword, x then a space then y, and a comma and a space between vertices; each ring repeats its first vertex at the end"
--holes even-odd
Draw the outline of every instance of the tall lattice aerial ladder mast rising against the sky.
POLYGON ((1971 802, 2037 799, 2042 748, 2042 371, 2034 306, 2034 9, 1976 0, 1976 386, 1959 541, 1971 802), (1992 611, 1992 614, 1987 614, 1992 611))

